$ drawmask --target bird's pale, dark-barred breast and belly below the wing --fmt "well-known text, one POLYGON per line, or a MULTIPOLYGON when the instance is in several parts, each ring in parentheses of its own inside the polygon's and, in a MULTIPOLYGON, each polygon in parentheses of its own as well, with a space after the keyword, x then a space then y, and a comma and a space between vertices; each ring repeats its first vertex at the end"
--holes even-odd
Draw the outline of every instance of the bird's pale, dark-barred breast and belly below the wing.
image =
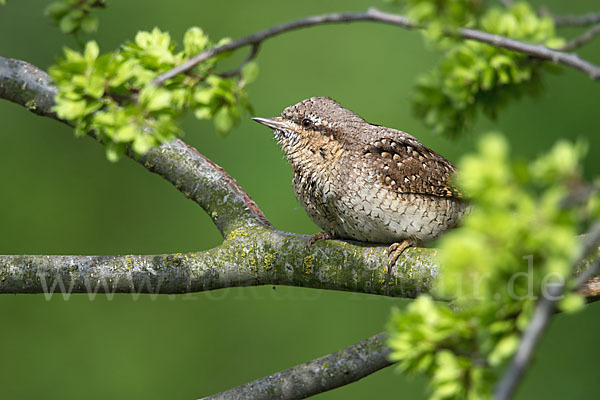
POLYGON ((390 190, 368 162, 343 155, 326 167, 295 169, 293 186, 321 229, 359 241, 428 241, 454 227, 465 210, 457 199, 390 190))

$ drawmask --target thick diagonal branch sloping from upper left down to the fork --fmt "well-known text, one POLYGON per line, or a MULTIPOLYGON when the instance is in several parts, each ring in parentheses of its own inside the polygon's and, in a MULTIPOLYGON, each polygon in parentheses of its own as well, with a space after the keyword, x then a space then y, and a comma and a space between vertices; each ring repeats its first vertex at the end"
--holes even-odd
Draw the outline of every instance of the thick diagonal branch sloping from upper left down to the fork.
MULTIPOLYGON (((44 71, 24 61, 0 57, 0 98, 67 123, 52 112, 55 94, 56 87, 44 71)), ((240 223, 269 224, 235 179, 181 140, 164 143, 141 157, 129 156, 198 203, 223 236, 240 223)))

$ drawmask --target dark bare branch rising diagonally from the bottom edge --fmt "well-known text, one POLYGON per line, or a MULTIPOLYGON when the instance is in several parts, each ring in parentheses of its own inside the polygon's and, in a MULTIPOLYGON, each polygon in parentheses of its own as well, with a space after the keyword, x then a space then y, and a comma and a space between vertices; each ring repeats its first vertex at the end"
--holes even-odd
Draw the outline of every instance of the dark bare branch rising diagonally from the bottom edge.
POLYGON ((316 360, 277 372, 203 400, 296 400, 355 382, 393 363, 387 358, 386 334, 316 360))

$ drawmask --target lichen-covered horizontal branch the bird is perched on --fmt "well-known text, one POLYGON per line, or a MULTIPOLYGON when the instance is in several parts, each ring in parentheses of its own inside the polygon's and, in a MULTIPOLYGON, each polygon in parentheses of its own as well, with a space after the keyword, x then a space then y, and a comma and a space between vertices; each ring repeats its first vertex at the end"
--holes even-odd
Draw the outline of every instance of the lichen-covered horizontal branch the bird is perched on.
POLYGON ((433 249, 409 249, 392 276, 386 247, 318 242, 248 225, 218 247, 196 253, 125 256, 0 256, 2 293, 180 294, 227 287, 288 285, 416 297, 438 266, 433 249))

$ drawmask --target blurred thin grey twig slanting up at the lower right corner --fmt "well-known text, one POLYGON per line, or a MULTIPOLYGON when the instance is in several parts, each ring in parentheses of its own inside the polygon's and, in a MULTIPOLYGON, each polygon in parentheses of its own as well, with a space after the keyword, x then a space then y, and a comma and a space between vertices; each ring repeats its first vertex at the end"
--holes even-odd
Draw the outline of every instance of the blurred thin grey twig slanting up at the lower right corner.
MULTIPOLYGON (((578 267, 583 260, 588 257, 594 250, 597 249, 598 243, 600 242, 600 220, 596 221, 590 232, 585 236, 582 250, 580 256, 576 263, 574 264, 574 268, 578 267)), ((596 260, 592 266, 590 266, 587 270, 579 274, 577 277, 576 287, 580 288, 586 282, 590 280, 593 276, 598 273, 600 269, 600 260, 596 260)), ((556 303, 562 297, 566 289, 565 284, 552 284, 546 287, 547 295, 543 296, 539 301, 535 308, 535 312, 529 325, 523 332, 523 337, 521 338, 521 344, 517 349, 517 353, 514 355, 510 365, 508 366, 504 376, 496 386, 496 390, 494 392, 495 400, 508 400, 512 397, 519 382, 523 378, 525 371, 531 361, 533 356, 533 352, 537 347, 552 314, 556 309, 556 303)))

